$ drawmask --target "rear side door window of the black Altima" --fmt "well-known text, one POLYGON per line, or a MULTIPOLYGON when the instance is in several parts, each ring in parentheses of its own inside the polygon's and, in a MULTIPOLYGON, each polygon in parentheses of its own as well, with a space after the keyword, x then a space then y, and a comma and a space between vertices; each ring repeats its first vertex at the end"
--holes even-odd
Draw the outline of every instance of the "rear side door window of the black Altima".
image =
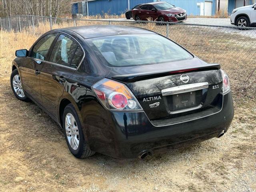
POLYGON ((49 61, 63 66, 77 68, 83 55, 82 48, 75 40, 60 34, 49 61), (73 56, 75 56, 74 59, 73 56))

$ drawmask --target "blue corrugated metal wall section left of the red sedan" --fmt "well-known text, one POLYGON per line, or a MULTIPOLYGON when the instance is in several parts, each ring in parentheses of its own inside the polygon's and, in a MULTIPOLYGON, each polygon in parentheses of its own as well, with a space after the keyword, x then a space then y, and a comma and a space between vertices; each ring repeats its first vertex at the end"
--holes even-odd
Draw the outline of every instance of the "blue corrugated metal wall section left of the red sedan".
POLYGON ((128 9, 128 0, 96 0, 88 2, 89 15, 116 14, 120 15, 128 9))

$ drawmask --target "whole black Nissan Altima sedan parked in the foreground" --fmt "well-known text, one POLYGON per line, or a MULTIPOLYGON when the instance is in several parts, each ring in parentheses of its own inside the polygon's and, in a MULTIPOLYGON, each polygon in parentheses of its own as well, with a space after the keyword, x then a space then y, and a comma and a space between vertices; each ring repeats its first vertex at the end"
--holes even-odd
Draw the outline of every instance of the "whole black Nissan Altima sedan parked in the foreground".
POLYGON ((77 158, 144 158, 220 137, 234 116, 219 64, 142 28, 51 30, 16 56, 15 96, 58 122, 77 158))

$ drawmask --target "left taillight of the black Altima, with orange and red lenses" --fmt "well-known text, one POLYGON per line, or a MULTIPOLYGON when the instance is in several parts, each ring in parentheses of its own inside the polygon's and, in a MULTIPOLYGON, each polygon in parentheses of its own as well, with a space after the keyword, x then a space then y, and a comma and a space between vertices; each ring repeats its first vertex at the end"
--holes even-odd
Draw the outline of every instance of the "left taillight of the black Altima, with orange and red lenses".
POLYGON ((92 90, 108 110, 142 111, 137 99, 125 84, 104 78, 94 84, 92 90))

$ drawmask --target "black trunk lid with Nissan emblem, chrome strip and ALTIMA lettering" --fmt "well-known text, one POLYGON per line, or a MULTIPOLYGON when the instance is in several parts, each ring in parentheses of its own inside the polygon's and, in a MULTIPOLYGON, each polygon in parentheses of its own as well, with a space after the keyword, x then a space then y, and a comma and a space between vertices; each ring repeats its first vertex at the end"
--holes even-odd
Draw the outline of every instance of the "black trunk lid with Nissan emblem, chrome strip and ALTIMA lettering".
MULTIPOLYGON (((137 66, 138 67, 138 66, 137 66)), ((144 66, 145 69, 145 66, 144 66)), ((220 109, 222 74, 219 64, 198 64, 114 75, 136 96, 151 121, 178 118, 220 109)), ((122 69, 123 70, 123 69, 122 69)), ((113 73, 113 71, 112 71, 113 73)))

